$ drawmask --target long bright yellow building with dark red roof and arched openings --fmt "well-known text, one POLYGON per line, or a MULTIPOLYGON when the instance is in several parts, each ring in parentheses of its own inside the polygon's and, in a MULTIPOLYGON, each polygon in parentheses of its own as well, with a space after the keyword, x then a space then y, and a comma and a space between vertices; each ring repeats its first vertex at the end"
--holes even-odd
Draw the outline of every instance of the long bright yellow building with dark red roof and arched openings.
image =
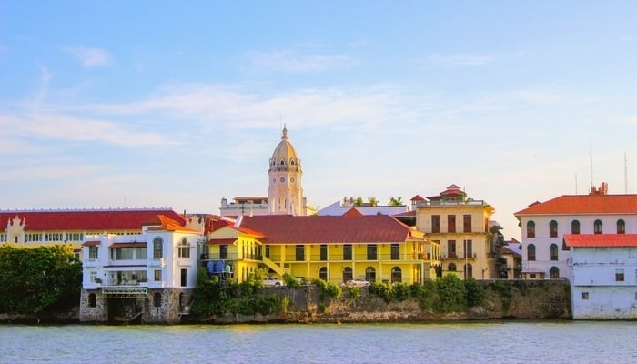
POLYGON ((438 244, 384 215, 240 217, 207 238, 215 273, 223 267, 238 281, 266 268, 275 277, 335 284, 352 278, 411 284, 435 278, 440 264, 438 244))

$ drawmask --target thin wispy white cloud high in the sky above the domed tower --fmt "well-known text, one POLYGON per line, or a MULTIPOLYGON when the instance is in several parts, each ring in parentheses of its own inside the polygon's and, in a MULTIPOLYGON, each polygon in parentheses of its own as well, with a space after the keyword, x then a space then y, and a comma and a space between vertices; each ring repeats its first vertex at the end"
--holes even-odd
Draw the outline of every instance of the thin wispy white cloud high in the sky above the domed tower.
POLYGON ((358 62, 342 55, 299 55, 295 51, 251 52, 246 55, 255 65, 280 72, 309 73, 329 69, 349 69, 358 62))

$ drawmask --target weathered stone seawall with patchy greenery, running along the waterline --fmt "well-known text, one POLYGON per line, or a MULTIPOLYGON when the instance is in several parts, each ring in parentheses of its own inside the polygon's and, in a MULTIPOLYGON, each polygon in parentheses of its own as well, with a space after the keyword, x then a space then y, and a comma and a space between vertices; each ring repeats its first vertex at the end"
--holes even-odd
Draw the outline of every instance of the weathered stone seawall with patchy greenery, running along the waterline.
MULTIPOLYGON (((479 307, 463 312, 440 313, 423 310, 419 301, 408 298, 387 303, 360 289, 354 298, 344 290, 339 299, 326 298, 316 286, 300 288, 264 288, 264 295, 289 300, 288 311, 273 315, 227 314, 207 319, 189 319, 185 323, 364 323, 364 322, 436 322, 501 319, 571 319, 571 286, 565 280, 480 281, 486 298, 479 307)), ((79 323, 79 310, 56 315, 0 314, 4 323, 79 323)))

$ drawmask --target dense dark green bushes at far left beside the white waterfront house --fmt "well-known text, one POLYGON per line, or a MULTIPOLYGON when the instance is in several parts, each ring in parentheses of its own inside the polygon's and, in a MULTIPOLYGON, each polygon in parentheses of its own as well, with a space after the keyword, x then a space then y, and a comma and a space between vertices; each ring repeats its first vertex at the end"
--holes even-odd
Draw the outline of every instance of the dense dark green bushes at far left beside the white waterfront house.
POLYGON ((0 246, 0 312, 70 310, 79 304, 81 289, 82 263, 71 246, 0 246))

